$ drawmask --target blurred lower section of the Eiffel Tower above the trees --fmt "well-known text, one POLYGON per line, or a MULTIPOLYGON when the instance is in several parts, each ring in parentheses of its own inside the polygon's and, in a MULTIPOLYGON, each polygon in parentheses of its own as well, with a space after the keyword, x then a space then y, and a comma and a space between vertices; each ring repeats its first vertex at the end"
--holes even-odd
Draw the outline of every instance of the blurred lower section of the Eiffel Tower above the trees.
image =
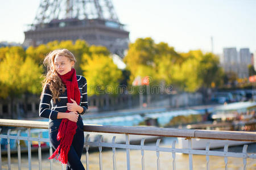
POLYGON ((129 43, 129 32, 119 22, 111 0, 41 0, 34 22, 24 34, 24 46, 82 39, 106 46, 120 57, 129 43))

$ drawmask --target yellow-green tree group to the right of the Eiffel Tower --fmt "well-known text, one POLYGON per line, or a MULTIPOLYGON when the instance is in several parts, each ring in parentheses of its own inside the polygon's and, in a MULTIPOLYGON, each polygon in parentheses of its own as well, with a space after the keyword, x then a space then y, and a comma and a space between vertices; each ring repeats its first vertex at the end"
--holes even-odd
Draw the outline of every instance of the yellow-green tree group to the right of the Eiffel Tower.
POLYGON ((178 90, 194 92, 202 86, 221 84, 223 75, 214 54, 201 50, 177 53, 167 43, 156 44, 151 38, 131 43, 123 61, 131 72, 130 85, 136 76, 147 75, 154 84, 172 84, 178 90))

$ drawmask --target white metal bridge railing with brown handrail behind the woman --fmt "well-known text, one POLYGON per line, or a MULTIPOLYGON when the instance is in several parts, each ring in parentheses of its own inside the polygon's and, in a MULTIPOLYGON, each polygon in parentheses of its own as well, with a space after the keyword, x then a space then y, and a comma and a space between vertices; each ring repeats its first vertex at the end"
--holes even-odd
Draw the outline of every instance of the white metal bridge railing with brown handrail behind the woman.
MULTIPOLYGON (((28 151, 28 169, 31 169, 31 142, 38 141, 38 160, 39 168, 42 169, 42 155, 41 155, 41 142, 49 142, 48 138, 42 138, 42 132, 39 133, 38 137, 31 137, 31 128, 37 129, 48 129, 48 122, 41 121, 23 121, 23 120, 0 120, 0 126, 11 126, 20 127, 27 129, 27 135, 20 135, 20 131, 15 135, 11 135, 11 129, 7 131, 7 134, 0 134, 1 139, 7 139, 7 160, 8 169, 11 169, 11 145, 10 139, 15 139, 17 143, 18 152, 18 169, 20 169, 20 141, 27 141, 28 151)), ((141 164, 142 169, 145 169, 144 163, 144 151, 155 151, 156 152, 156 164, 157 169, 160 169, 160 152, 170 152, 172 154, 172 168, 176 169, 175 158, 176 153, 183 153, 189 155, 189 169, 193 169, 193 155, 205 155, 206 156, 206 169, 209 169, 209 156, 221 156, 224 157, 225 169, 227 169, 228 158, 241 158, 243 160, 243 169, 246 169, 246 160, 248 158, 256 160, 256 154, 247 153, 247 145, 243 146, 242 152, 229 152, 228 144, 224 146, 224 151, 212 151, 210 150, 210 142, 207 143, 205 150, 197 150, 192 148, 192 139, 221 139, 231 141, 247 141, 256 142, 256 132, 245 132, 245 131, 216 131, 216 130, 194 130, 194 129, 171 129, 171 128, 152 128, 152 127, 125 127, 125 126, 103 126, 103 125, 84 125, 84 131, 88 133, 111 133, 111 134, 125 134, 125 141, 123 143, 116 143, 116 137, 112 138, 111 142, 102 141, 102 135, 98 138, 98 141, 91 141, 89 139, 90 134, 85 137, 85 150, 86 150, 86 169, 89 169, 89 147, 98 147, 99 154, 99 166, 102 169, 102 147, 112 148, 113 151, 113 169, 117 169, 117 162, 115 158, 115 149, 122 148, 126 150, 126 165, 127 169, 130 167, 130 150, 141 150, 141 164), (141 145, 131 145, 130 135, 149 135, 152 137, 159 137, 156 140, 155 146, 144 145, 145 138, 141 139, 141 145), (180 137, 188 140, 187 148, 176 148, 176 141, 172 142, 172 147, 160 147, 160 137, 180 137)), ((51 145, 51 144, 49 144, 51 145)), ((0 170, 2 169, 2 152, 0 147, 0 170)), ((52 154, 52 148, 49 147, 49 154, 52 154)), ((49 160, 50 169, 52 169, 53 160, 49 160)), ((64 166, 61 166, 64 169, 64 166)))

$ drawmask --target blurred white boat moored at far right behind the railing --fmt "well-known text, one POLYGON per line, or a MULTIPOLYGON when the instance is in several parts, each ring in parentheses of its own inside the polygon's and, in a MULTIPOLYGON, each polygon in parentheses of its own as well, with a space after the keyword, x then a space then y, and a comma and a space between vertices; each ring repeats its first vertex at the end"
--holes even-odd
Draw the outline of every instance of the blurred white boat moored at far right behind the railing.
MULTIPOLYGON (((256 131, 255 111, 256 102, 254 101, 224 104, 214 108, 212 113, 213 124, 187 125, 187 129, 256 131)), ((178 138, 178 141, 180 147, 188 148, 187 139, 178 138)), ((244 141, 192 138, 192 148, 205 150, 208 142, 210 142, 210 149, 222 148, 225 145, 238 146, 253 143, 244 141)))

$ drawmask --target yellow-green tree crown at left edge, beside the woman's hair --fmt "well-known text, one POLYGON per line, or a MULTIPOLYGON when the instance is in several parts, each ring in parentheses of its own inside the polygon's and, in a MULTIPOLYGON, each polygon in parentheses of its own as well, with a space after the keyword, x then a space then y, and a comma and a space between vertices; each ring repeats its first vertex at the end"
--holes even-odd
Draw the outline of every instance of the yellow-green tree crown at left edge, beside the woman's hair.
POLYGON ((14 97, 24 92, 40 93, 40 76, 43 69, 30 57, 24 59, 18 53, 6 53, 0 62, 0 71, 0 97, 14 97))

